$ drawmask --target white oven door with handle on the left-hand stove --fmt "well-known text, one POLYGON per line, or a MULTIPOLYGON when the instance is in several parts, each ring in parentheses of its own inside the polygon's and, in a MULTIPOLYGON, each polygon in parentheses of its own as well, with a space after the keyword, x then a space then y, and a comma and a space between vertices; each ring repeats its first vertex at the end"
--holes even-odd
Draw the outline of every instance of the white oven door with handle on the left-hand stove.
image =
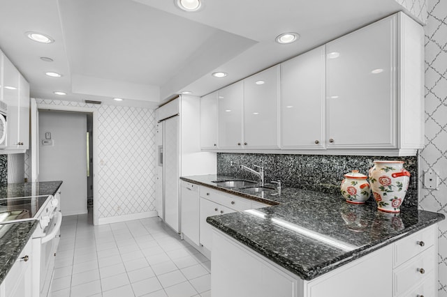
POLYGON ((59 245, 62 214, 57 211, 45 228, 45 235, 41 238, 41 284, 40 296, 47 297, 51 292, 51 282, 54 272, 54 257, 59 245))

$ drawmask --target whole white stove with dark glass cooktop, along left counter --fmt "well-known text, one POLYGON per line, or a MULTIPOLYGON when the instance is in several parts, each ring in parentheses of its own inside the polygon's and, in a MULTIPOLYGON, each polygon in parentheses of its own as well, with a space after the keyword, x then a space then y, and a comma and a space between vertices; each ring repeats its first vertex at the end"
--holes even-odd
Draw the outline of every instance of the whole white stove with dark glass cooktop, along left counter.
POLYGON ((32 236, 32 296, 47 297, 51 294, 54 257, 59 245, 62 215, 59 209, 60 192, 42 195, 0 199, 0 223, 38 220, 32 236))

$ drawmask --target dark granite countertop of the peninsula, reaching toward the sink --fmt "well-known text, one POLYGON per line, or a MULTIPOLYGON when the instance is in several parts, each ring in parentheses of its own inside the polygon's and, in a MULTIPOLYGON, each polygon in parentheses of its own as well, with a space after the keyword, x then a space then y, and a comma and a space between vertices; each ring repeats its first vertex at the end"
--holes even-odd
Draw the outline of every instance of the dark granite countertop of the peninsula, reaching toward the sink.
POLYGON ((342 195, 296 188, 283 188, 281 195, 261 197, 212 183, 225 179, 230 177, 182 177, 233 195, 277 204, 212 216, 207 222, 303 280, 312 280, 445 218, 416 209, 383 213, 373 199, 365 204, 348 204, 342 195))

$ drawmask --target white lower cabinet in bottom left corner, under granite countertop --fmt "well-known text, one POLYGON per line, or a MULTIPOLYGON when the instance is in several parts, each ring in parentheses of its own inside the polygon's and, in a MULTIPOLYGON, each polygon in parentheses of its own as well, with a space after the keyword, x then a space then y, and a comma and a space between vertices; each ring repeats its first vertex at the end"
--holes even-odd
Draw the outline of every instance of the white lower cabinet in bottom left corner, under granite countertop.
POLYGON ((30 238, 0 286, 0 297, 31 297, 32 294, 32 251, 30 238))

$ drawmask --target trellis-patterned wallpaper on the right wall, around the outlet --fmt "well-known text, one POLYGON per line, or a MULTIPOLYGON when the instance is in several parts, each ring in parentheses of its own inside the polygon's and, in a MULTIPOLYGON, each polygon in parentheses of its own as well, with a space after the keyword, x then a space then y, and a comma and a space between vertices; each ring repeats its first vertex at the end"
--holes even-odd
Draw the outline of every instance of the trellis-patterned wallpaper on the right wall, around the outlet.
MULTIPOLYGON (((425 26, 425 147, 423 171, 433 170, 439 190, 420 187, 419 206, 447 216, 447 0, 428 1, 425 26)), ((447 221, 439 224, 439 297, 447 297, 447 221)))

